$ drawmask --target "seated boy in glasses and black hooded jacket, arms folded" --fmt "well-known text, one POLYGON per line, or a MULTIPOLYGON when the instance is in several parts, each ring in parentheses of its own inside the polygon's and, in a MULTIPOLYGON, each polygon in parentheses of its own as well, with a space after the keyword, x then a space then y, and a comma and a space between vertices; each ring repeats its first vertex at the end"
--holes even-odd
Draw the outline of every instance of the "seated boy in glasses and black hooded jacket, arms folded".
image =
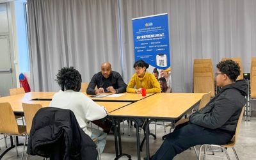
POLYGON ((248 93, 246 81, 236 81, 239 74, 240 67, 235 61, 218 63, 215 78, 220 92, 204 108, 193 113, 189 122, 178 125, 168 134, 152 159, 170 160, 195 145, 223 145, 230 141, 248 93))

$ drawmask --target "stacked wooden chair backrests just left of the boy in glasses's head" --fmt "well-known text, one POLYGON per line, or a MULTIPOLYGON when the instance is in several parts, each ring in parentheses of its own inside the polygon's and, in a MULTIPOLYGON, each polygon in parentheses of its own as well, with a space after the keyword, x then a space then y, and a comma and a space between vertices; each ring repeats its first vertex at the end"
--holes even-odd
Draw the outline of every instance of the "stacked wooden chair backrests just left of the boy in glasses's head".
POLYGON ((194 60, 193 92, 211 92, 211 97, 214 97, 214 74, 211 59, 194 60))

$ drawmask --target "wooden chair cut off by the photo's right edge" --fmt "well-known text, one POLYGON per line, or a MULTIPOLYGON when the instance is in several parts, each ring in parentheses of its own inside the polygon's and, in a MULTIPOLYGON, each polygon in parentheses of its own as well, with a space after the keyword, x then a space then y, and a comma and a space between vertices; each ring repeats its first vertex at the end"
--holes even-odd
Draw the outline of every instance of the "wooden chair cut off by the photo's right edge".
POLYGON ((252 58, 252 63, 251 63, 251 76, 250 76, 250 81, 251 81, 251 94, 250 94, 250 109, 248 108, 248 115, 249 120, 251 116, 251 108, 252 108, 252 100, 256 100, 256 57, 252 58))

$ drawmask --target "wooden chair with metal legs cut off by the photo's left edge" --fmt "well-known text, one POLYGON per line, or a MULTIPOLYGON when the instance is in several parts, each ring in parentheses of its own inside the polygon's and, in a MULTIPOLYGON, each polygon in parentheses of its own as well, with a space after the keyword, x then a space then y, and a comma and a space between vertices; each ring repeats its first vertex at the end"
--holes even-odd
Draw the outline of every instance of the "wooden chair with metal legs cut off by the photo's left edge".
MULTIPOLYGON (((0 103, 0 108, 1 108, 0 134, 5 134, 5 135, 15 136, 15 137, 16 136, 25 136, 25 141, 26 141, 27 140, 26 126, 17 124, 16 118, 15 118, 15 115, 13 113, 10 103, 2 102, 2 103, 0 103)), ((17 153, 17 156, 19 156, 18 150, 17 150, 17 145, 18 145, 17 140, 15 138, 16 153, 17 153)), ((25 143, 23 145, 22 159, 24 156, 24 147, 25 147, 25 143)), ((10 148, 7 148, 6 151, 4 151, 4 153, 1 155, 0 159, 11 148, 13 148, 13 146, 11 146, 10 148)))

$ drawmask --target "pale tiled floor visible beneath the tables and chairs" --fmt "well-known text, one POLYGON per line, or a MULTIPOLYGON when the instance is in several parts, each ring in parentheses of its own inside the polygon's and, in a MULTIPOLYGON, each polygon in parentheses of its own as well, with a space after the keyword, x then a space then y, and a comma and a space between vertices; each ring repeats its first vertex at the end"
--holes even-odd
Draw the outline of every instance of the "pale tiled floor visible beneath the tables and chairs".
MULTIPOLYGON (((122 126, 122 125, 121 125, 122 126)), ((154 132, 154 125, 150 125, 150 131, 154 132)), ((170 127, 166 128, 167 131, 170 130, 170 127)), ((239 134, 239 140, 236 145, 236 152, 239 156, 239 159, 256 159, 256 117, 252 117, 250 122, 244 122, 241 125, 241 130, 239 134)), ((157 140, 153 140, 152 137, 150 137, 150 154, 154 154, 156 152, 157 148, 160 147, 161 143, 163 141, 161 140, 161 137, 166 134, 163 129, 163 125, 157 125, 157 140)), ((1 136, 2 138, 3 136, 1 136)), ((141 133, 141 140, 143 138, 143 134, 141 133)), ((21 138, 20 138, 21 139, 21 138)), ((24 139, 21 139, 20 141, 24 141, 24 139)), ((8 143, 10 143, 10 139, 7 140, 8 143)), ((10 146, 10 144, 8 144, 10 146)), ((4 140, 0 140, 0 154, 5 149, 4 147, 4 140)), ((196 147, 198 150, 198 146, 196 147)), ((122 134, 122 149, 123 152, 126 154, 131 154, 132 159, 137 159, 137 152, 136 152, 136 134, 135 129, 132 128, 131 130, 131 136, 127 135, 127 123, 125 123, 125 130, 124 134, 122 134)), ((143 148, 143 152, 141 152, 141 157, 145 157, 145 147, 143 148)), ((3 159, 20 159, 22 154, 22 147, 19 147, 19 157, 16 156, 15 148, 10 150, 3 159)), ((222 152, 215 152, 217 156, 225 156, 222 152)), ((231 159, 236 159, 234 157, 234 153, 232 149, 228 149, 228 154, 230 155, 231 159)), ((37 156, 29 156, 29 159, 42 159, 42 157, 37 156)), ((109 159, 115 159, 115 141, 113 134, 109 134, 107 138, 107 144, 105 147, 105 150, 103 154, 101 155, 102 160, 109 160, 109 159)), ((127 159, 127 157, 121 157, 120 159, 127 159)), ((196 159, 195 151, 193 148, 191 150, 186 150, 185 152, 182 152, 178 156, 174 158, 177 159, 196 159)), ((220 157, 211 157, 207 156, 206 159, 223 159, 220 157)))

